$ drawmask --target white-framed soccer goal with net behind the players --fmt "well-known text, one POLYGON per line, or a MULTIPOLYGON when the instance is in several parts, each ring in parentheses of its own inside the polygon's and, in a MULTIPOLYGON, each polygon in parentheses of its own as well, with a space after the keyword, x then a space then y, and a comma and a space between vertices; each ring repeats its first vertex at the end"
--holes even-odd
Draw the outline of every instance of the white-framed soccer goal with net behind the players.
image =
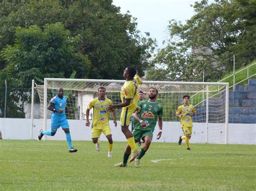
MULTIPOLYGON (((125 80, 50 78, 44 79, 44 85, 33 84, 32 82, 32 91, 35 88, 39 95, 42 129, 46 130, 46 119, 50 118, 52 114, 47 109, 47 105, 51 98, 57 95, 58 88, 64 89, 68 107, 75 111, 73 114, 66 114, 67 118, 84 120, 87 105, 93 98, 97 97, 100 86, 106 88, 106 97, 110 98, 113 104, 117 104, 121 102, 120 90, 124 82, 125 80)), ((147 99, 147 93, 151 87, 157 88, 159 91, 157 101, 163 105, 164 122, 179 122, 179 118, 175 115, 176 110, 179 105, 183 104, 183 96, 190 95, 190 104, 194 105, 197 110, 197 114, 193 116, 193 126, 203 128, 205 143, 227 144, 228 83, 143 81, 138 91, 143 91, 145 99, 147 99)), ((31 108, 33 110, 33 101, 31 108)), ((116 109, 117 119, 120 118, 121 110, 116 109)), ((90 113, 91 117, 92 114, 90 113)), ((31 117, 31 129, 32 119, 33 117, 31 117)), ((112 119, 110 118, 110 120, 112 119)))

